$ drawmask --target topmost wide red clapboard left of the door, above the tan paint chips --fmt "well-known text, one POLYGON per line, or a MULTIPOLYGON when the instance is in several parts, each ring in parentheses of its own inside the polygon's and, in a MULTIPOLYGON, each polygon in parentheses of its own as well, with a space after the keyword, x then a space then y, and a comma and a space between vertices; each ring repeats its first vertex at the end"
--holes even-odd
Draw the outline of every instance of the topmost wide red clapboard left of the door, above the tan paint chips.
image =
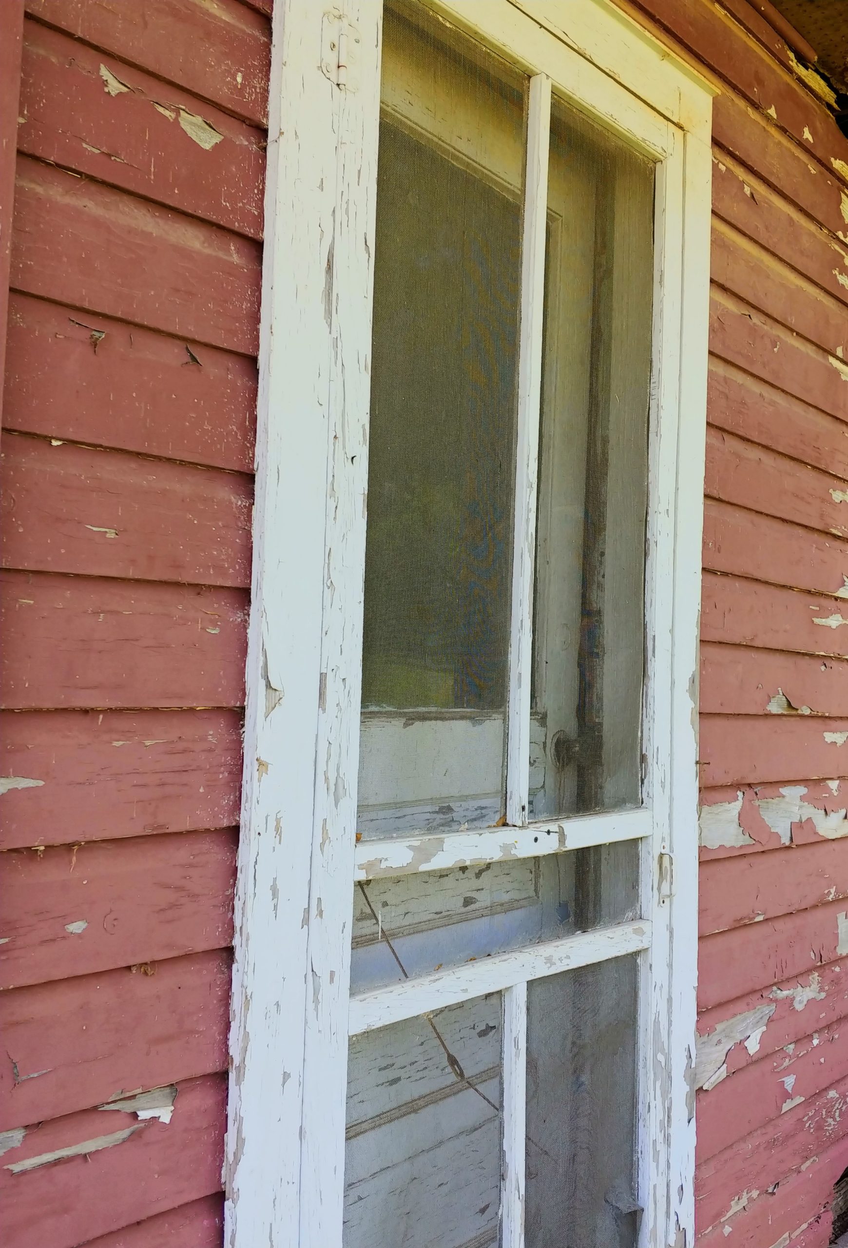
POLYGON ((123 0, 27 0, 26 10, 236 116, 266 124, 271 29, 238 0, 216 0, 214 5, 203 0, 136 0, 131 5, 123 0))

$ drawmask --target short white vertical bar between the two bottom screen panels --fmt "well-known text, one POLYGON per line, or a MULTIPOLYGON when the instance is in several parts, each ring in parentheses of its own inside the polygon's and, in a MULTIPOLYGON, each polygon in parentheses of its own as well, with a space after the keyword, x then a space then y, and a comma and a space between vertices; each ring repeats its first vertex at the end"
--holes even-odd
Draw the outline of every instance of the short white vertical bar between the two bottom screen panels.
POLYGON ((501 1248, 524 1248, 528 1118, 528 985, 504 992, 501 1248))

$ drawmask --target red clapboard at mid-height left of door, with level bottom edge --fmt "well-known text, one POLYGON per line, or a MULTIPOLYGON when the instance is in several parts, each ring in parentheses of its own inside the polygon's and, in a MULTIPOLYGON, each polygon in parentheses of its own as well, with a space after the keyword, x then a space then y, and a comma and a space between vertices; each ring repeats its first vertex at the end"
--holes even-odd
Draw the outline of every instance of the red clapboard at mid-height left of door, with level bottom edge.
POLYGON ((0 573, 5 708, 241 706, 247 594, 0 573))

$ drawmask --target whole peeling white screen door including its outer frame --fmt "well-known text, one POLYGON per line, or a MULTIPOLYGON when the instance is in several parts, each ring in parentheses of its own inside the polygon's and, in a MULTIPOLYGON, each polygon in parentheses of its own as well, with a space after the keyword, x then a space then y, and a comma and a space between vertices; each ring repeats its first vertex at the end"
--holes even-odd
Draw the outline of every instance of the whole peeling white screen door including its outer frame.
POLYGON ((318 221, 266 324, 231 1241, 676 1246, 708 99, 606 0, 281 4, 324 147, 273 191, 318 221))

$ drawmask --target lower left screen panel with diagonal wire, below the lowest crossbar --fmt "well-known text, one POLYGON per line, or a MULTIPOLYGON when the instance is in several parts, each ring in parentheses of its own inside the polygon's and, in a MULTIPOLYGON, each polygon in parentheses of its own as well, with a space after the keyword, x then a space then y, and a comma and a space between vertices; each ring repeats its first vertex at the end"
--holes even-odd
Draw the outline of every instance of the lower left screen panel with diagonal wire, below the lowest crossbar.
POLYGON ((350 1038, 344 1248, 499 1242, 500 993, 350 1038))

